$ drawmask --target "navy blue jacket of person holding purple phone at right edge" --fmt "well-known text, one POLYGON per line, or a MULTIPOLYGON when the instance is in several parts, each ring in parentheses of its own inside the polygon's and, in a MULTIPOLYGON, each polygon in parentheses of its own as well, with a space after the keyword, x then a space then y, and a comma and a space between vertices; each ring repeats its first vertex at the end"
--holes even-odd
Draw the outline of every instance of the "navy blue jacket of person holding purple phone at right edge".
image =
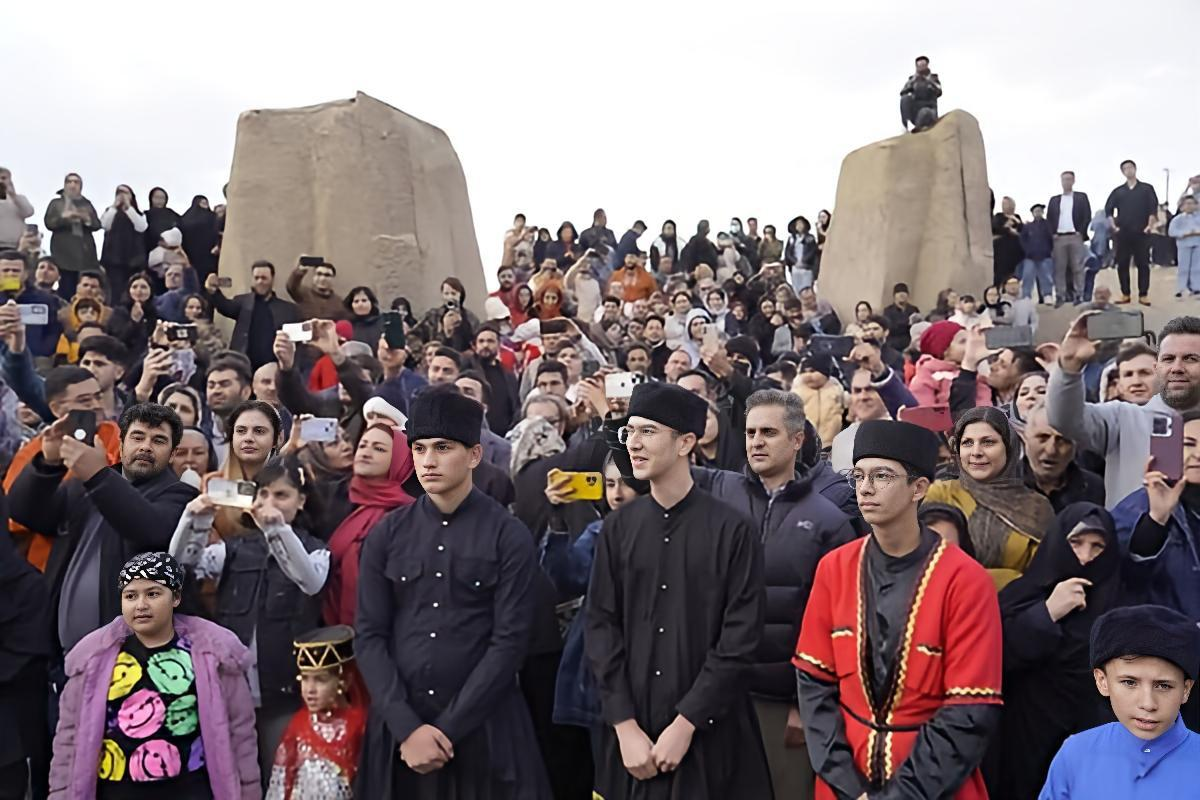
POLYGON ((1144 558, 1129 552, 1129 540, 1148 511, 1146 489, 1138 489, 1112 509, 1124 559, 1121 573, 1126 602, 1166 606, 1200 621, 1200 521, 1189 518, 1182 505, 1176 506, 1166 524, 1163 549, 1144 558))

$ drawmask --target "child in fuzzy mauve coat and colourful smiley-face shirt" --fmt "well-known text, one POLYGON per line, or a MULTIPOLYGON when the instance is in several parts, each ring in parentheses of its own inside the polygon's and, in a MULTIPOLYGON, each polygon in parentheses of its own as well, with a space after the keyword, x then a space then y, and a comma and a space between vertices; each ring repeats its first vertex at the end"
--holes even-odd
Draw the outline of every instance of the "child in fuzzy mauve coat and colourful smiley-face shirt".
POLYGON ((121 616, 66 658, 50 798, 259 796, 253 661, 215 622, 175 614, 184 570, 167 553, 121 567, 121 616))

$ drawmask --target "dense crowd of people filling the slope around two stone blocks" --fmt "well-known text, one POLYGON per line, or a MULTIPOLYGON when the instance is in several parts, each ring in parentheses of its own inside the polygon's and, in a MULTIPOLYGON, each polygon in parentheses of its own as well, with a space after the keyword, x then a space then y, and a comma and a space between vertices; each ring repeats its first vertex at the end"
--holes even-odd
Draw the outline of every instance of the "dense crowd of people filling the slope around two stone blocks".
POLYGON ((828 211, 517 215, 422 309, 0 169, 0 798, 1183 796, 1200 317, 1090 327, 1200 176, 1122 172, 842 319, 828 211))

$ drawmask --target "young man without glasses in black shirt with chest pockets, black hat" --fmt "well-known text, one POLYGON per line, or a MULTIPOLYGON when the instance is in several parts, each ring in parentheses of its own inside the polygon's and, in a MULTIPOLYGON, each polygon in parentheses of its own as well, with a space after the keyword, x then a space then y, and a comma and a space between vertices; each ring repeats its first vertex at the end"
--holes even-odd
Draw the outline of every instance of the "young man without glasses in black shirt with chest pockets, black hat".
POLYGON ((416 503, 362 546, 359 668, 371 716, 359 798, 548 800, 517 686, 533 624, 533 536, 472 486, 484 408, 456 391, 413 399, 416 503))

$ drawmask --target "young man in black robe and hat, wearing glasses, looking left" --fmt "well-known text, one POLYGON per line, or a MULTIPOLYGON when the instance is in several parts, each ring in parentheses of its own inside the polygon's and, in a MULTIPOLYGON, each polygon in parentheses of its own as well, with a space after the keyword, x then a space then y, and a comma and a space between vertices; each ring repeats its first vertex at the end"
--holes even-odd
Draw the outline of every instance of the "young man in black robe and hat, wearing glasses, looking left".
POLYGON ((620 438, 650 493, 605 521, 588 591, 604 800, 773 796, 745 682, 762 636, 762 551, 754 523, 692 482, 707 411, 668 384, 640 384, 630 399, 620 438))

